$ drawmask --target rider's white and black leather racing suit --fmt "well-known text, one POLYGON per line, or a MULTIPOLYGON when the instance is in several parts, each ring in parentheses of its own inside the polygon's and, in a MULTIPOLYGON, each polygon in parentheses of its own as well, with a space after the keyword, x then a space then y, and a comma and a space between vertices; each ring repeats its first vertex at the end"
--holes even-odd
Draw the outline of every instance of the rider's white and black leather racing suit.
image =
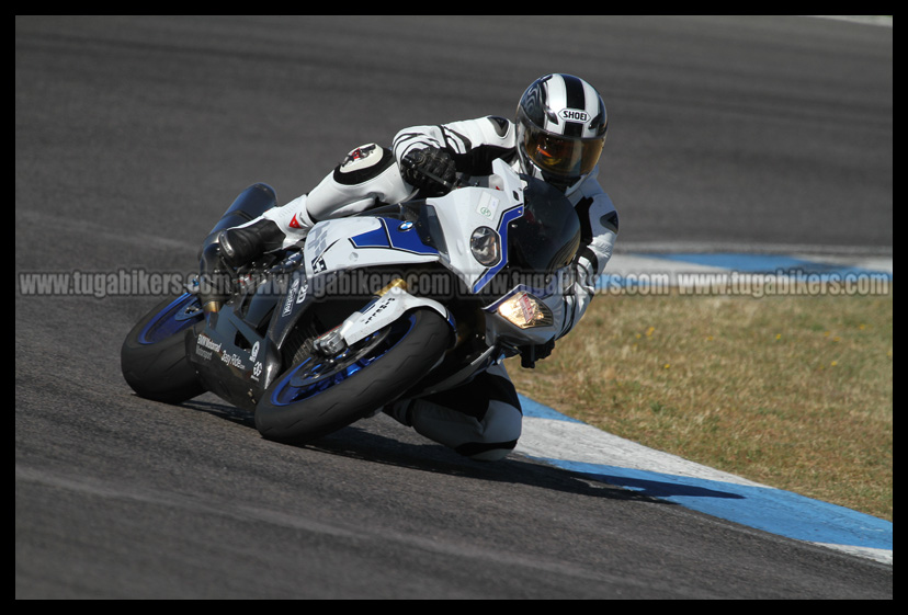
MULTIPOLYGON (((364 212, 376 204, 399 203, 415 195, 400 175, 399 162, 411 149, 438 147, 454 158, 457 171, 487 175, 501 158, 518 171, 514 124, 501 117, 480 117, 436 126, 415 126, 395 136, 391 148, 376 144, 351 151, 311 192, 262 217, 274 220, 286 235, 285 247, 303 240, 317 221, 364 212)), ((595 281, 612 255, 617 214, 595 180, 598 168, 568 192, 580 218, 580 251, 569 285, 545 299, 560 334, 570 331, 593 297, 595 281)), ((517 445, 522 412, 504 366, 495 365, 452 390, 401 400, 385 409, 421 435, 480 460, 497 460, 517 445)))

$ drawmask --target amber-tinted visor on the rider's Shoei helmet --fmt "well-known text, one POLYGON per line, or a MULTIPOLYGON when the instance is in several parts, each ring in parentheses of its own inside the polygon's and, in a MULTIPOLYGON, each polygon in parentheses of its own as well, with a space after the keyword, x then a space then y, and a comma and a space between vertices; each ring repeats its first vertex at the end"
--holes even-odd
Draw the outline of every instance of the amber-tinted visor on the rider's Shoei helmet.
POLYGON ((593 170, 605 137, 591 139, 552 135, 530 125, 523 135, 523 150, 540 169, 554 175, 579 178, 593 170))

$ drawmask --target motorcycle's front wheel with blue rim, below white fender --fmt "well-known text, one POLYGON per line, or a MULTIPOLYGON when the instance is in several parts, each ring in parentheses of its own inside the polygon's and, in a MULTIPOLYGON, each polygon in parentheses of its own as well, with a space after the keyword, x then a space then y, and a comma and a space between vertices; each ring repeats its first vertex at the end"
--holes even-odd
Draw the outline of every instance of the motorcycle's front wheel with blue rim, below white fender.
POLYGON ((413 310, 332 360, 308 353, 281 375, 256 408, 269 440, 306 443, 397 399, 442 357, 451 328, 435 311, 413 310))

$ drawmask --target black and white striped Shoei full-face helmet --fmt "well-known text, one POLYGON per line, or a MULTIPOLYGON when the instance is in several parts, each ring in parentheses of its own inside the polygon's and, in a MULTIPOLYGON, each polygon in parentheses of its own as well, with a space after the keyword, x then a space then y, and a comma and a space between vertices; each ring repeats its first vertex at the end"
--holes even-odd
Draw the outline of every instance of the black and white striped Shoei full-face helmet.
POLYGON ((571 75, 536 79, 517 110, 518 152, 527 174, 570 194, 599 162, 605 143, 605 103, 571 75))

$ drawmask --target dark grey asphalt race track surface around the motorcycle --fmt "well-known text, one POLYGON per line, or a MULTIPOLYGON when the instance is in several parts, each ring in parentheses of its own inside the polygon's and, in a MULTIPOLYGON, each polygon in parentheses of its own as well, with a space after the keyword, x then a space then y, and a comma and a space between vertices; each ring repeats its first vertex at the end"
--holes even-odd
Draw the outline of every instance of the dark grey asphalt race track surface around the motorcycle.
POLYGON ((287 201, 401 127, 511 115, 548 71, 605 96, 625 246, 892 254, 890 27, 16 16, 16 599, 892 599, 892 566, 386 417, 293 447, 211 396, 141 400, 118 351, 155 297, 21 292, 185 275, 250 183, 287 201))

